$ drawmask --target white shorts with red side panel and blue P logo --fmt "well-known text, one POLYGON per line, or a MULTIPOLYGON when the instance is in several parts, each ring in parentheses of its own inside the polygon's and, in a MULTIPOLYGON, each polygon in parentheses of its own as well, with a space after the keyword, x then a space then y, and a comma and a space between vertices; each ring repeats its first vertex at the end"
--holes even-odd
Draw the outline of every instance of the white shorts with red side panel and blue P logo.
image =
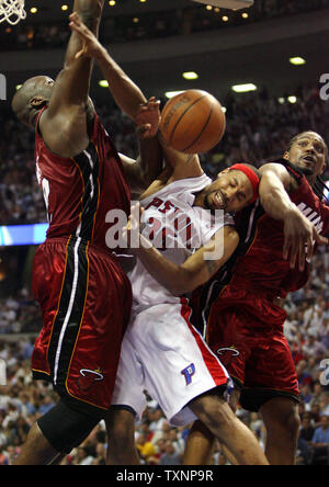
POLYGON ((133 317, 122 346, 113 406, 128 406, 140 419, 144 390, 155 399, 173 426, 185 426, 196 417, 188 404, 229 376, 219 360, 190 324, 191 308, 161 304, 133 317))

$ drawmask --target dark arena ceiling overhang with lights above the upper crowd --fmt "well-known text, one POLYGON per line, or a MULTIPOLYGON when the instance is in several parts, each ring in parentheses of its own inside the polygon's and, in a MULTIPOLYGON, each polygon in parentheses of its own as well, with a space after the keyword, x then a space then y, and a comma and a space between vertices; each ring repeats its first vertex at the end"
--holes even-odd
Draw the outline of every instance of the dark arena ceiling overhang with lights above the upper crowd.
MULTIPOLYGON (((118 1, 123 4, 133 2, 118 1)), ((154 7, 159 3, 154 1, 154 7)), ((135 4, 137 2, 134 1, 135 4)), ((57 1, 38 3, 54 5, 57 1)), ((182 3, 192 2, 184 0, 182 3)), ((293 95, 298 86, 317 86, 320 76, 329 72, 326 13, 300 13, 189 36, 113 44, 110 52, 147 95, 160 98, 169 90, 198 88, 223 100, 232 84, 243 82, 266 87, 277 97, 293 95), (292 56, 302 56, 306 64, 293 66, 290 63, 292 56), (198 79, 183 79, 184 71, 197 72, 198 79)), ((9 98, 13 94, 13 87, 31 76, 46 73, 56 77, 63 58, 61 49, 0 54, 1 72, 8 78, 9 98)), ((99 87, 100 79, 102 75, 95 68, 91 93, 97 103, 106 103, 109 93, 99 87)))

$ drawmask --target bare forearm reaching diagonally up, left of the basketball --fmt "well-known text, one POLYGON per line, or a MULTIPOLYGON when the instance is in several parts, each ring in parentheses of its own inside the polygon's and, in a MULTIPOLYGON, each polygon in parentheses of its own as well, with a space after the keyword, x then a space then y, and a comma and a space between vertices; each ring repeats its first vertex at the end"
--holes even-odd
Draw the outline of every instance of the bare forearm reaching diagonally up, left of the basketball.
POLYGON ((141 90, 115 63, 105 48, 100 48, 95 58, 109 82, 110 91, 116 104, 134 120, 140 103, 146 102, 141 90))

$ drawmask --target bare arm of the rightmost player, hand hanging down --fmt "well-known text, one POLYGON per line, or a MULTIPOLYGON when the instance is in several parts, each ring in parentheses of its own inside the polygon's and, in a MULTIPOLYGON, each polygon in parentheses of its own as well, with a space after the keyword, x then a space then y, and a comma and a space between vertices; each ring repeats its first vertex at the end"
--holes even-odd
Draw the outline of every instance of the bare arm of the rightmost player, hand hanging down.
POLYGON ((283 258, 290 260, 291 268, 305 269, 306 260, 310 260, 314 245, 328 244, 315 226, 303 215, 291 201, 292 178, 284 166, 277 163, 264 165, 261 169, 259 185, 260 201, 265 212, 274 219, 283 222, 284 247, 283 258))

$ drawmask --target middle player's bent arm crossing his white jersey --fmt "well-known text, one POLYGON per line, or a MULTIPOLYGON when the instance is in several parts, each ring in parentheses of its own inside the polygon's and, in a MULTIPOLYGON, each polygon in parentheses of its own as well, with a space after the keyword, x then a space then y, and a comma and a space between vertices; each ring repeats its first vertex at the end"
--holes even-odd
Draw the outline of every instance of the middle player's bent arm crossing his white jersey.
POLYGON ((128 225, 123 230, 124 237, 127 236, 127 240, 131 240, 134 253, 146 270, 174 295, 190 293, 206 283, 228 261, 239 244, 236 229, 232 226, 225 226, 183 264, 178 265, 140 235, 136 214, 138 208, 134 206, 128 225))

